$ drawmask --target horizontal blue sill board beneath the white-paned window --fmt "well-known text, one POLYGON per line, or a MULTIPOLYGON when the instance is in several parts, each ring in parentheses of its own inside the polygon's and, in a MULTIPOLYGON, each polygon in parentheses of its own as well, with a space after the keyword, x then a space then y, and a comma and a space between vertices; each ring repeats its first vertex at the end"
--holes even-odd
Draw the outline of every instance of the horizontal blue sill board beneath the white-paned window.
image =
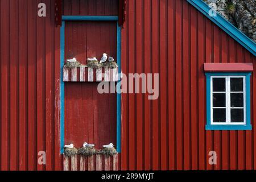
POLYGON ((251 125, 205 125, 205 130, 252 130, 251 125))

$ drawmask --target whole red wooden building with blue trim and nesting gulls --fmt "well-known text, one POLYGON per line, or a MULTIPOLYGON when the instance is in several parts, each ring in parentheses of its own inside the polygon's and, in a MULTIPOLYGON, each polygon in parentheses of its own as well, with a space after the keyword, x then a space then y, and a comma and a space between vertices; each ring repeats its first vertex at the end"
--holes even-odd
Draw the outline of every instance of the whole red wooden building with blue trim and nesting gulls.
POLYGON ((65 169, 256 169, 256 45, 209 9, 198 0, 0 0, 0 169, 63 170, 64 144, 86 141, 112 142, 119 154, 65 169), (99 94, 87 68, 64 82, 64 60, 104 52, 126 75, 159 73, 158 99, 99 94))

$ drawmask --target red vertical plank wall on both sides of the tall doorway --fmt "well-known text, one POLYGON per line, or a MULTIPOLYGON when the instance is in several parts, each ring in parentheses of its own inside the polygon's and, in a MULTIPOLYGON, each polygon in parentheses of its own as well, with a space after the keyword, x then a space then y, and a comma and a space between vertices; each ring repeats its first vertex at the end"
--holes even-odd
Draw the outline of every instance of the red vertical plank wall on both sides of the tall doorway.
MULTIPOLYGON (((78 2, 94 7, 100 1, 65 1, 78 2)), ((92 10, 65 3, 66 15, 92 10)), ((1 0, 0 10, 1 170, 63 169, 54 1, 1 0), (46 18, 37 16, 39 2, 50 9, 46 18), (39 150, 47 151, 46 167, 37 163, 39 150)), ((255 69, 255 57, 185 0, 129 0, 126 10, 122 72, 160 72, 161 82, 159 100, 122 95, 122 169, 256 169, 256 97, 251 96, 253 130, 205 131, 203 72, 205 62, 247 62, 255 69), (218 154, 215 167, 208 164, 210 150, 218 154)), ((97 12, 102 11, 111 13, 97 12)), ((252 95, 255 90, 254 71, 252 95)))

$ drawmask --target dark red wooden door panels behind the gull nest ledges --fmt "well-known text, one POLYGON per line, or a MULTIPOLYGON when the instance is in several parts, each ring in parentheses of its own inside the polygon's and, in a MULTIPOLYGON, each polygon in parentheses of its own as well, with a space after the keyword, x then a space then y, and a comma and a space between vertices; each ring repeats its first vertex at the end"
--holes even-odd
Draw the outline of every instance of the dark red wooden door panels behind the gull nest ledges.
MULTIPOLYGON (((116 22, 66 22, 65 60, 76 57, 101 59, 102 53, 117 56, 116 22)), ((116 94, 99 94, 97 82, 65 83, 65 143, 116 142, 116 94)))

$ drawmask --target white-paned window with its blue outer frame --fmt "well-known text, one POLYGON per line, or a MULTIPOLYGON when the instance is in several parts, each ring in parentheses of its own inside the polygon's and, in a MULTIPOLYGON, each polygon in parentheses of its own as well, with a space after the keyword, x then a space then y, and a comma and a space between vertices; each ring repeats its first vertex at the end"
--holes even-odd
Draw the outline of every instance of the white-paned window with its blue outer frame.
POLYGON ((206 130, 251 130, 250 72, 207 72, 206 130))

